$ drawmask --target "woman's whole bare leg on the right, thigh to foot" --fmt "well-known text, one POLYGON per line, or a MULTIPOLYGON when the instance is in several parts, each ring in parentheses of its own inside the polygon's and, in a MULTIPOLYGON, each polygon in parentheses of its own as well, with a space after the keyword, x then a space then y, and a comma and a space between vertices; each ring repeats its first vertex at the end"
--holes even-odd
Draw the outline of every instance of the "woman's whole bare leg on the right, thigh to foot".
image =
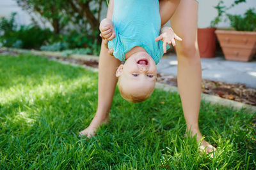
MULTIPOLYGON (((178 88, 187 130, 196 135, 198 141, 202 134, 198 127, 198 114, 201 100, 202 68, 197 44, 198 2, 180 0, 180 4, 171 18, 173 31, 182 38, 176 42, 178 60, 178 88)), ((202 141, 202 149, 212 152, 212 145, 202 141)))

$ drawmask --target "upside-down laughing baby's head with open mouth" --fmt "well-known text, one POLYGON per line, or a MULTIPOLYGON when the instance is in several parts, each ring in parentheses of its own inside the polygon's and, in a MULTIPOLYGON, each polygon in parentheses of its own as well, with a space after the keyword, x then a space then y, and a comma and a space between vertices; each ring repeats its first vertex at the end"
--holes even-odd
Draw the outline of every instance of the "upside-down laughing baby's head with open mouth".
POLYGON ((131 55, 124 65, 118 67, 116 76, 122 89, 127 94, 143 96, 154 90, 157 70, 156 64, 147 52, 137 52, 131 55))

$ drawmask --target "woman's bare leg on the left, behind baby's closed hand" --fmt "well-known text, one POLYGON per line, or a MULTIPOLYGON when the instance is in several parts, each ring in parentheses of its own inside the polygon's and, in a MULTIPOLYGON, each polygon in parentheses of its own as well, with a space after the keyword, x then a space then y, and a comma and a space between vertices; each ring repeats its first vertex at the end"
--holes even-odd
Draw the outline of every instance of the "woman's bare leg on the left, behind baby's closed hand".
MULTIPOLYGON (((110 1, 107 18, 112 18, 112 12, 113 1, 110 1)), ((108 122, 108 112, 111 108, 116 82, 118 80, 115 73, 120 64, 120 60, 109 55, 108 48, 102 42, 99 57, 98 108, 91 124, 80 132, 81 135, 90 138, 95 135, 97 127, 108 122)))

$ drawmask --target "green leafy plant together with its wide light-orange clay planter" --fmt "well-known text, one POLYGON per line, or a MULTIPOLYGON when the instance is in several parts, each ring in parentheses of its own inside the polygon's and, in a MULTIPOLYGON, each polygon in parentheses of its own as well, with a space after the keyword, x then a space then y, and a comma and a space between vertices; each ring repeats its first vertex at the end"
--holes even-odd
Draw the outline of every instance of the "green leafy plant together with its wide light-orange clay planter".
MULTIPOLYGON (((241 0, 242 1, 242 0, 241 0)), ((240 1, 240 2, 241 2, 240 1)), ((235 1, 237 2, 237 1, 235 1)), ((244 0, 243 0, 244 2, 244 0)), ((234 30, 216 30, 220 46, 227 60, 249 61, 256 52, 256 13, 255 9, 248 9, 243 16, 230 15, 226 11, 231 7, 220 6, 218 4, 218 17, 214 22, 221 21, 221 17, 230 20, 230 25, 234 30)))

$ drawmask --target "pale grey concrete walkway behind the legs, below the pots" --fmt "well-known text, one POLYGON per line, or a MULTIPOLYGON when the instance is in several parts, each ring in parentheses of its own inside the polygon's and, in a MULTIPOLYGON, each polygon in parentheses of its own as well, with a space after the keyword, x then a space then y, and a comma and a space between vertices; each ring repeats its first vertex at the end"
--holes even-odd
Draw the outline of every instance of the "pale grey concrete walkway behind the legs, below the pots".
MULTIPOLYGON (((202 78, 223 81, 225 83, 242 83, 256 89, 256 60, 238 62, 225 60, 224 57, 201 59, 202 78)), ((157 64, 157 71, 177 76, 177 56, 169 53, 157 64)))

